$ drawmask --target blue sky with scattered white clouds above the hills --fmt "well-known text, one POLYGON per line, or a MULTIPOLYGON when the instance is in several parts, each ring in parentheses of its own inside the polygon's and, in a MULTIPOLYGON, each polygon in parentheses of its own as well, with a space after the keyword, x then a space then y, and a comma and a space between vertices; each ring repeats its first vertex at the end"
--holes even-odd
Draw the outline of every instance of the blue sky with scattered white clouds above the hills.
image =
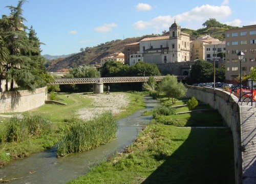
MULTIPOLYGON (((6 6, 17 0, 0 0, 0 14, 10 13, 6 6)), ((117 1, 117 0, 28 0, 23 5, 24 24, 33 26, 42 55, 79 52, 106 41, 161 34, 174 19, 181 28, 199 29, 209 18, 223 24, 256 24, 256 0, 215 1, 117 1)))

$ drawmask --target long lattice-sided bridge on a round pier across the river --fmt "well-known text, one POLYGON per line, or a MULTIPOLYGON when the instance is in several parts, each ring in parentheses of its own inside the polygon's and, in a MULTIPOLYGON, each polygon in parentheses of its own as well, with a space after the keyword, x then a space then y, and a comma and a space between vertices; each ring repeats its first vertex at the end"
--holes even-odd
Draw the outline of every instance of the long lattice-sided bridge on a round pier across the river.
MULTIPOLYGON (((153 76, 159 82, 165 76, 153 76)), ((178 80, 184 80, 187 76, 176 76, 178 80)), ((93 84, 93 93, 103 93, 104 83, 128 83, 128 82, 147 82, 150 77, 100 77, 100 78, 62 78, 55 79, 49 84, 93 84)))

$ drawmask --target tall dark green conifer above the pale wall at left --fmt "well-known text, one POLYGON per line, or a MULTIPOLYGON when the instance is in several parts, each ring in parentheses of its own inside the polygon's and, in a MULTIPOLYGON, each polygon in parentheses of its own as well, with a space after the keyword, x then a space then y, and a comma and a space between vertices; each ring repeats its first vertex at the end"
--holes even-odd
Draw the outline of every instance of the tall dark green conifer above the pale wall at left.
POLYGON ((25 2, 19 1, 17 7, 7 6, 10 15, 3 15, 0 19, 0 35, 10 53, 5 76, 7 85, 8 80, 11 80, 11 90, 14 89, 14 81, 20 89, 34 90, 52 80, 43 65, 45 59, 40 56, 41 43, 35 31, 31 27, 28 34, 27 27, 23 24, 26 21, 22 15, 25 2))

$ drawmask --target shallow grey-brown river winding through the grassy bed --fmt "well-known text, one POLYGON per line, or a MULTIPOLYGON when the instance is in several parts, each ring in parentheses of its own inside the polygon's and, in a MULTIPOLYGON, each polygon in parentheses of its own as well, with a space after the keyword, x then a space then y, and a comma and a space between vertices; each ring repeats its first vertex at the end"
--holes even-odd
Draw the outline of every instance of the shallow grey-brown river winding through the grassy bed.
POLYGON ((54 148, 35 153, 1 168, 0 178, 10 180, 9 183, 66 183, 79 175, 88 173, 94 165, 122 151, 125 146, 131 145, 139 131, 151 121, 151 116, 141 116, 141 114, 145 110, 154 108, 159 102, 152 100, 151 97, 144 97, 144 100, 146 109, 118 120, 117 137, 109 144, 61 158, 56 157, 54 148))

